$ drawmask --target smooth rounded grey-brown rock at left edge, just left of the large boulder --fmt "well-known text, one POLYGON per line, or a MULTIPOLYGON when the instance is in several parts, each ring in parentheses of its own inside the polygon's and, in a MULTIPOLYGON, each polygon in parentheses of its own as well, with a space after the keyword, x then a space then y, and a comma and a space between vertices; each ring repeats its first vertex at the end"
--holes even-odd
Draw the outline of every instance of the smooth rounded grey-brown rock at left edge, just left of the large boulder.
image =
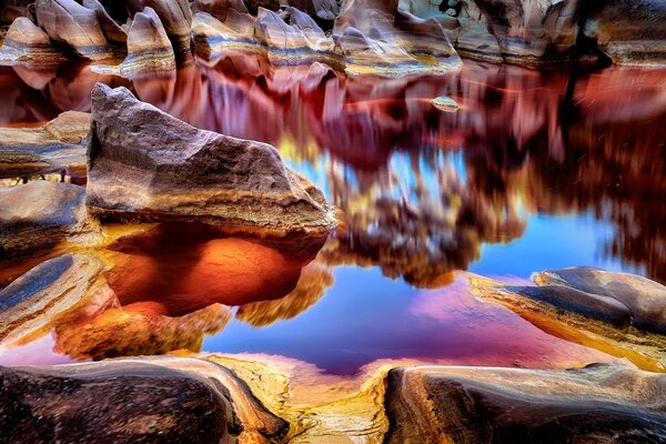
POLYGON ((32 181, 0 188, 0 258, 34 254, 68 238, 92 234, 85 189, 69 183, 32 181))

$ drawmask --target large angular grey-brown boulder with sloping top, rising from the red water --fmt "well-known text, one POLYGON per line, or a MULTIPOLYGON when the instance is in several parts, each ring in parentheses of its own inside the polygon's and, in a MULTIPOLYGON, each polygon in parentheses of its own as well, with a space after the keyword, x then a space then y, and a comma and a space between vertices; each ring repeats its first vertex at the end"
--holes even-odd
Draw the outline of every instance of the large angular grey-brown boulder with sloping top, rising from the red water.
POLYGON ((124 221, 180 221, 265 235, 324 234, 322 193, 265 143, 198 130, 125 88, 92 92, 87 204, 124 221))

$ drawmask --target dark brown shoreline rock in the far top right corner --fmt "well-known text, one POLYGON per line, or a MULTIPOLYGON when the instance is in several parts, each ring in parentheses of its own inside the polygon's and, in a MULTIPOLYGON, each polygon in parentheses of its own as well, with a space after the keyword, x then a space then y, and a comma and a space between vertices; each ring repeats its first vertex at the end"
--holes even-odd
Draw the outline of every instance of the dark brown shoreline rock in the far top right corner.
POLYGON ((666 3, 655 0, 591 2, 583 33, 614 63, 664 64, 666 3))

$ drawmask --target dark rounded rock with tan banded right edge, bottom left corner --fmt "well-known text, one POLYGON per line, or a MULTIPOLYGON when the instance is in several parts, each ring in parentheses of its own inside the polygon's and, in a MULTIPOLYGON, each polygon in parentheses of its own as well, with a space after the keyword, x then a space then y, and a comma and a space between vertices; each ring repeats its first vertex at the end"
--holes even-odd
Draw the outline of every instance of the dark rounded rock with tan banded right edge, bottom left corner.
POLYGON ((233 373, 195 359, 2 367, 0 380, 10 442, 265 442, 287 428, 233 373))

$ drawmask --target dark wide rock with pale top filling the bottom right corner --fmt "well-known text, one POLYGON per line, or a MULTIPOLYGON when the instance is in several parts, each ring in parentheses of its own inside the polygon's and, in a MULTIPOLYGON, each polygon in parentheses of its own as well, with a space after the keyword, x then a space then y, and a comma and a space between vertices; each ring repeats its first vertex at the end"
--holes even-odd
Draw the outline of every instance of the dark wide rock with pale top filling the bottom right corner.
POLYGON ((394 369, 385 442, 660 443, 665 394, 663 374, 603 364, 394 369))

